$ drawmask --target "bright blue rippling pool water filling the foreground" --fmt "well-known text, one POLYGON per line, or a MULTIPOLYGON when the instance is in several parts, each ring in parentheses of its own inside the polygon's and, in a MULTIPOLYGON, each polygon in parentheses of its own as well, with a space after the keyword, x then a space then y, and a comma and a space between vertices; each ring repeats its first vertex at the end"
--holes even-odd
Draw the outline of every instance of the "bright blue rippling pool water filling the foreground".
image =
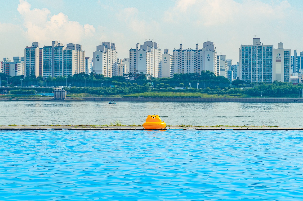
POLYGON ((0 131, 0 200, 302 200, 302 131, 0 131))

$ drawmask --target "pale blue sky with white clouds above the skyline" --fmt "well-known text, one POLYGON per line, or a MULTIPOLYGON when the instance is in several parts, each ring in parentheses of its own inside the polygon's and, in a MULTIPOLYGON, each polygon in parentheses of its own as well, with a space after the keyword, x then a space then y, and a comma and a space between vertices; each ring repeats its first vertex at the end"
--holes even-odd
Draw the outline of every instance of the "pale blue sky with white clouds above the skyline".
POLYGON ((153 39, 170 53, 213 41, 218 53, 238 61, 254 35, 264 44, 303 51, 302 1, 295 0, 20 0, 0 6, 0 58, 23 56, 35 40, 82 44, 86 56, 100 42, 116 43, 118 56, 153 39))

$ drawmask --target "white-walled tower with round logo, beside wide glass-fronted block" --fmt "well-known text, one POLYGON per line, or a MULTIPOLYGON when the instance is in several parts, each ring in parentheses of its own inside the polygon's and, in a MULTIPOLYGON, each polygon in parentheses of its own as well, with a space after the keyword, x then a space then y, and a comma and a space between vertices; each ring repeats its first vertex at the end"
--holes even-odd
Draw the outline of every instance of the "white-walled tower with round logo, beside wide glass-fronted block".
POLYGON ((283 43, 278 43, 278 49, 273 50, 272 81, 290 81, 290 49, 284 49, 283 43))

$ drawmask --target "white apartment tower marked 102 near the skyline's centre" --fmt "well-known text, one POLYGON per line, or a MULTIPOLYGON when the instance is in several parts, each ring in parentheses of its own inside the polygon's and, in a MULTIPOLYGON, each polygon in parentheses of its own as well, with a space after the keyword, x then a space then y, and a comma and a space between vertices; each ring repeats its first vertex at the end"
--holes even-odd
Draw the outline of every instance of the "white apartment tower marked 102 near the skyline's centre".
POLYGON ((130 73, 162 77, 162 49, 158 48, 158 43, 151 40, 145 41, 144 45, 137 43, 136 49, 129 50, 129 59, 130 73))

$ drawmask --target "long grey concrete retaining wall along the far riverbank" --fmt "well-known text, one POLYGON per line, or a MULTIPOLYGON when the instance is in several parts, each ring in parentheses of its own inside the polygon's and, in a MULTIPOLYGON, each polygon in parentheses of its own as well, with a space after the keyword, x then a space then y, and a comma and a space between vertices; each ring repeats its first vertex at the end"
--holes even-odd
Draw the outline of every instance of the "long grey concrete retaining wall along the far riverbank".
POLYGON ((303 103, 303 98, 83 98, 86 101, 152 101, 152 102, 268 102, 303 103))

